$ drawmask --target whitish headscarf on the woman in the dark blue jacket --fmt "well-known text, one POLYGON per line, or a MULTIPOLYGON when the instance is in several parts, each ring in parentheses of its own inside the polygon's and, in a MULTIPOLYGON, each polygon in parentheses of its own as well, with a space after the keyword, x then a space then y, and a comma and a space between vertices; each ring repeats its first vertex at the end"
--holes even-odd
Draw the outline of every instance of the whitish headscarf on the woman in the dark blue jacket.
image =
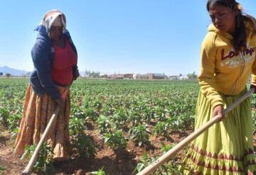
POLYGON ((64 32, 66 28, 65 15, 64 13, 56 9, 48 11, 46 15, 43 17, 42 25, 46 28, 46 33, 48 33, 49 37, 50 37, 51 26, 63 26, 63 32, 64 32))

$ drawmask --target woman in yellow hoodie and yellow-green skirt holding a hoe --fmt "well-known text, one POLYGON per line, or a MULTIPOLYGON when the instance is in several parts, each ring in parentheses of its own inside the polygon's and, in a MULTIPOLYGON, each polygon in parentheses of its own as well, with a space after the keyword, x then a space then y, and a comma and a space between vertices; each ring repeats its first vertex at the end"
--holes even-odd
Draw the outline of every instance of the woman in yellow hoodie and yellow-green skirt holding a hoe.
POLYGON ((256 174, 250 99, 227 115, 223 108, 256 84, 256 22, 235 0, 208 0, 212 20, 201 47, 201 91, 195 129, 222 121, 196 138, 183 159, 184 174, 256 174))

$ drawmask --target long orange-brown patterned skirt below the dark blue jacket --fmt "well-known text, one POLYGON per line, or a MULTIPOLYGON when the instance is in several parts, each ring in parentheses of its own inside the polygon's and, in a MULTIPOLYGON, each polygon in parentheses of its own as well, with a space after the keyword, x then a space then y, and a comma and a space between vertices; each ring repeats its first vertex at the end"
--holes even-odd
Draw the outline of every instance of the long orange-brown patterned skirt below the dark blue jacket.
MULTIPOLYGON (((64 87, 58 87, 60 94, 65 91, 64 87)), ((48 94, 36 94, 31 85, 26 91, 23 118, 21 120, 18 136, 15 142, 14 152, 22 155, 26 145, 37 144, 46 129, 50 117, 53 115, 56 103, 48 94)), ((65 97, 65 107, 57 115, 57 120, 50 128, 46 142, 53 147, 55 159, 68 158, 69 123, 70 118, 70 94, 65 97)))

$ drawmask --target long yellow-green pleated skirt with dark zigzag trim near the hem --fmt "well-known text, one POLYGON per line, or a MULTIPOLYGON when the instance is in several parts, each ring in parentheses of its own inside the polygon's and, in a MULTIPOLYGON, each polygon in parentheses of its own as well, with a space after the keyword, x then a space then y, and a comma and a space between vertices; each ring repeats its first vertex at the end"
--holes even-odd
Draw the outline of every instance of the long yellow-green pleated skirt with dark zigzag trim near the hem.
MULTIPOLYGON (((245 92, 238 96, 221 95, 224 108, 245 92)), ((212 111, 206 96, 200 92, 196 106, 195 129, 210 120, 212 111)), ((252 132, 250 99, 247 98, 230 111, 225 120, 216 123, 193 140, 183 159, 183 174, 256 174, 252 132)))

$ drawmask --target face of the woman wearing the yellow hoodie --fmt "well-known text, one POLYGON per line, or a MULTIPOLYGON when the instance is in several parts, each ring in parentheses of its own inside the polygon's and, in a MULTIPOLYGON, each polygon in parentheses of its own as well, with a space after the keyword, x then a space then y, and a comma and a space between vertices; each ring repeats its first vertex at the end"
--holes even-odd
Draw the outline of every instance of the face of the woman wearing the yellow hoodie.
POLYGON ((235 11, 227 6, 210 5, 209 16, 218 30, 231 34, 235 33, 235 11))

